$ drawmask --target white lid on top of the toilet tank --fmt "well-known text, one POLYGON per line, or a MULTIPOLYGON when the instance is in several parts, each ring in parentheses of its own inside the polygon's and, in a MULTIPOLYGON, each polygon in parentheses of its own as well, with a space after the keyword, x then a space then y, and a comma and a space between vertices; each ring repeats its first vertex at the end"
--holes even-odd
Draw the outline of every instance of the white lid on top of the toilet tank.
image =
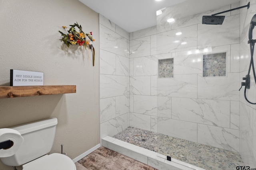
POLYGON ((10 127, 10 128, 14 129, 16 131, 19 131, 20 134, 23 135, 26 133, 30 133, 32 131, 37 131, 37 130, 44 129, 47 127, 55 126, 55 125, 57 125, 57 123, 58 123, 58 119, 53 117, 50 119, 34 121, 34 122, 30 122, 30 123, 18 125, 15 127, 10 127))

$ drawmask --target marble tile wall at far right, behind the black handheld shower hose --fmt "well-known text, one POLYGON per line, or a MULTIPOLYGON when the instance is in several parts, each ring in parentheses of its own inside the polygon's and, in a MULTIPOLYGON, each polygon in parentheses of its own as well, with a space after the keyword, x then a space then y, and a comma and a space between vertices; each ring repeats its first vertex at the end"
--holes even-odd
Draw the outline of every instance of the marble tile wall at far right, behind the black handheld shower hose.
MULTIPOLYGON (((256 0, 241 0, 240 5, 247 5, 248 2, 252 4, 249 9, 240 10, 240 76, 239 80, 242 82, 242 77, 248 74, 250 64, 250 45, 248 41, 248 31, 252 16, 256 14, 256 0)), ((254 31, 255 33, 255 31, 254 31)), ((255 35, 253 36, 255 39, 255 35)), ((255 52, 254 52, 255 54, 255 52)), ((254 55, 254 62, 256 57, 254 55)), ((250 89, 247 89, 246 96, 248 100, 256 102, 256 84, 253 78, 252 70, 250 72, 250 89)), ((250 167, 256 167, 256 105, 249 104, 244 99, 244 88, 240 90, 240 154, 244 163, 250 167)), ((234 110, 232 111, 234 113, 234 110)), ((238 113, 234 113, 232 118, 238 117, 238 113)))

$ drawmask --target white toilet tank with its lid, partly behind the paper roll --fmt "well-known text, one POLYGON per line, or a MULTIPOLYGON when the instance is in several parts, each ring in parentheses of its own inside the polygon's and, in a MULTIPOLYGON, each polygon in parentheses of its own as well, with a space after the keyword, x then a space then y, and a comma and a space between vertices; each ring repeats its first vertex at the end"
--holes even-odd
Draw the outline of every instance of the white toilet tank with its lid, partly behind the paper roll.
POLYGON ((45 119, 16 127, 24 141, 20 149, 10 157, 0 158, 9 166, 20 166, 50 152, 54 142, 57 118, 45 119))

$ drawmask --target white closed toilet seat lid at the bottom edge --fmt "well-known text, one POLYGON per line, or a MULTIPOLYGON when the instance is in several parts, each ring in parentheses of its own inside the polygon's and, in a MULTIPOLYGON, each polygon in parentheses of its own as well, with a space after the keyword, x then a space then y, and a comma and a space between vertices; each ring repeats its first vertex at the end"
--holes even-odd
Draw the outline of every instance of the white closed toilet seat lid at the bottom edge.
POLYGON ((22 170, 76 170, 74 162, 66 155, 53 153, 22 165, 22 170))

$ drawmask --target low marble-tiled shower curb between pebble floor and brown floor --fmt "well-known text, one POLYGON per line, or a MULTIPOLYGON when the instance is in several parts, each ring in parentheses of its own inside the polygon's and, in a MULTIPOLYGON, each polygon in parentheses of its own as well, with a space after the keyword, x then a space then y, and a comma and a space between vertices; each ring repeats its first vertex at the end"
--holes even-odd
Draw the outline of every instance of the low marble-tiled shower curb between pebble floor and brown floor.
POLYGON ((168 161, 166 156, 162 154, 109 136, 102 139, 102 146, 159 170, 205 170, 174 158, 172 158, 172 161, 168 161))

